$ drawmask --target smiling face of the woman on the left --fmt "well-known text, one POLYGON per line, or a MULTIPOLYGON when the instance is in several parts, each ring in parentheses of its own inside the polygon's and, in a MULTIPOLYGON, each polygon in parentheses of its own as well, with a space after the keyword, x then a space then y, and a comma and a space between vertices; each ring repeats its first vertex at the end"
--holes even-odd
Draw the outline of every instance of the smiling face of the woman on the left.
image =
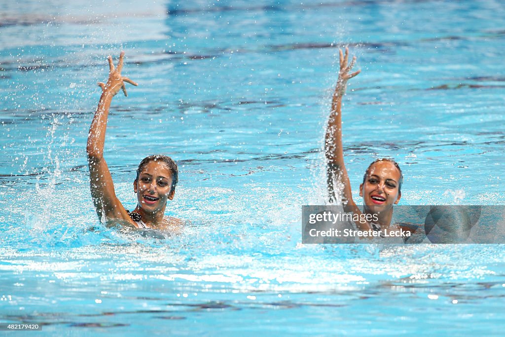
POLYGON ((133 182, 138 205, 147 213, 164 212, 168 200, 174 199, 172 174, 163 162, 150 161, 133 182))

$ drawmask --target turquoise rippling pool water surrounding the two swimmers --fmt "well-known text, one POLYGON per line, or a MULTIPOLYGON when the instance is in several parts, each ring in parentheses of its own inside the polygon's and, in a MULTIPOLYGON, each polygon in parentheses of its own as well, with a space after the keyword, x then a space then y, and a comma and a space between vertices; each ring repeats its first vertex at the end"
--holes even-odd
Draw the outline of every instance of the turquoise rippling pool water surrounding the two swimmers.
POLYGON ((401 205, 505 204, 504 7, 0 5, 0 322, 46 335, 502 334, 502 245, 302 245, 300 219, 324 201, 340 45, 362 70, 343 108, 355 192, 391 157, 401 205), (139 161, 172 156, 167 214, 192 223, 178 236, 106 229, 93 210, 87 131, 120 50, 139 86, 111 108, 116 194, 134 207, 139 161))

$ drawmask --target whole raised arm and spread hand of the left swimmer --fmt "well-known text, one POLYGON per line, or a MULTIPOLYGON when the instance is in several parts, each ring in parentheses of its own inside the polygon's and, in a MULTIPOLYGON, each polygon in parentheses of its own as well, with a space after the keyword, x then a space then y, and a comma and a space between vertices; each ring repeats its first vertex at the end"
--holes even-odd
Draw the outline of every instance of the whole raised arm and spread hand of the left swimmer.
POLYGON ((137 83, 121 75, 124 52, 121 52, 119 56, 117 68, 114 68, 112 57, 109 56, 108 59, 110 68, 109 79, 107 83, 98 83, 102 88, 102 96, 100 97, 93 121, 91 122, 91 127, 89 128, 86 146, 91 196, 96 213, 100 219, 105 216, 107 219, 123 219, 131 222, 123 205, 116 198, 111 173, 104 159, 104 143, 107 118, 109 116, 112 98, 120 89, 122 89, 125 96, 127 96, 124 82, 133 85, 137 85, 137 83))

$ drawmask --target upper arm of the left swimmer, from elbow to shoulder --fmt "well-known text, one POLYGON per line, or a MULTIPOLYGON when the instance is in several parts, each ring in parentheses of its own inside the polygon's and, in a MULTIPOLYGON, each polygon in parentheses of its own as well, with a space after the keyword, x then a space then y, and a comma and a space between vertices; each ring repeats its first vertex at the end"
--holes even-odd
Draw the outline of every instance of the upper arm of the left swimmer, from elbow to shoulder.
POLYGON ((98 217, 108 220, 123 219, 131 222, 128 213, 116 197, 111 172, 103 157, 88 156, 89 185, 98 217))

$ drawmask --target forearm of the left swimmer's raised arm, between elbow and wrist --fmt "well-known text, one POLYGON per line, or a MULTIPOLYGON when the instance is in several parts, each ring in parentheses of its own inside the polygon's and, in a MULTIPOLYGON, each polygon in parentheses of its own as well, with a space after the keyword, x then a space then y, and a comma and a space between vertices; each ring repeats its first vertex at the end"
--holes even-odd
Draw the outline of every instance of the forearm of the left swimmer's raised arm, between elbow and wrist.
POLYGON ((88 133, 86 152, 89 158, 102 158, 104 154, 105 132, 113 95, 104 91, 98 102, 88 133))

